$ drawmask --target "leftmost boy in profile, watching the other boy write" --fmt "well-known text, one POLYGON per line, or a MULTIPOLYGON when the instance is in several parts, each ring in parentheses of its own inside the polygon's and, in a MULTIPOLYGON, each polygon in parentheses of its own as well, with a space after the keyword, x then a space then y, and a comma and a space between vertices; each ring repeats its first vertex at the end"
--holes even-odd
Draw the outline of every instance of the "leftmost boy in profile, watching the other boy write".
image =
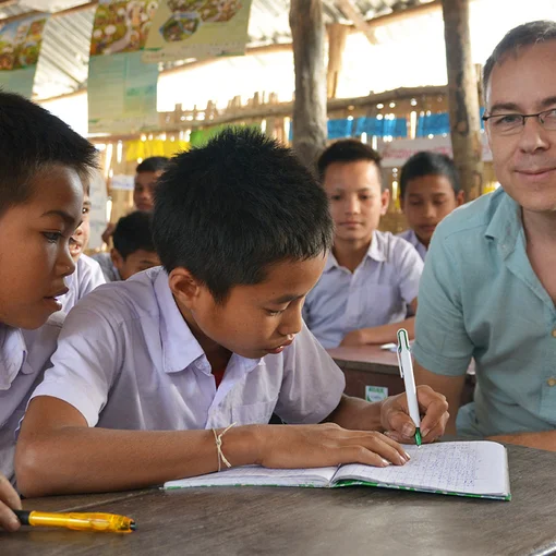
POLYGON ((60 297, 75 265, 69 242, 81 221, 83 183, 96 150, 31 101, 0 92, 0 527, 21 508, 15 430, 49 365, 61 327, 60 297))

